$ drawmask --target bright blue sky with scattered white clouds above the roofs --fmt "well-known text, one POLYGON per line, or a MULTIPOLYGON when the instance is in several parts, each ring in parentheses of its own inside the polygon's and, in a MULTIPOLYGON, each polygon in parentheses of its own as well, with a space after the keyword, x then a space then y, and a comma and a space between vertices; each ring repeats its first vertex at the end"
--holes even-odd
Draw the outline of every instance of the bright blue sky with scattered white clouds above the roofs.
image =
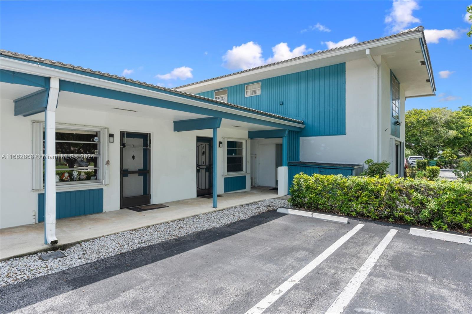
POLYGON ((0 48, 174 87, 423 25, 437 96, 406 109, 456 109, 472 104, 469 4, 1 1, 0 48))

